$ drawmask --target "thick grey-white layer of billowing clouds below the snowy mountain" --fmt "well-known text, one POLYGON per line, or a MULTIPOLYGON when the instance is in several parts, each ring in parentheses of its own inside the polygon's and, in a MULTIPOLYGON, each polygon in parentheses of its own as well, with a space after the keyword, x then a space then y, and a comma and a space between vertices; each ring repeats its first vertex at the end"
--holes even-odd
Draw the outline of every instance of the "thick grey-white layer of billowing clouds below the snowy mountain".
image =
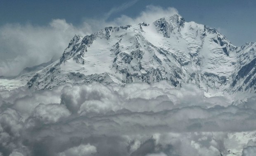
POLYGON ((232 152, 250 156, 256 146, 255 138, 247 139, 255 134, 255 101, 233 106, 225 97, 204 97, 195 85, 175 89, 167 82, 2 91, 0 152, 3 156, 232 152))

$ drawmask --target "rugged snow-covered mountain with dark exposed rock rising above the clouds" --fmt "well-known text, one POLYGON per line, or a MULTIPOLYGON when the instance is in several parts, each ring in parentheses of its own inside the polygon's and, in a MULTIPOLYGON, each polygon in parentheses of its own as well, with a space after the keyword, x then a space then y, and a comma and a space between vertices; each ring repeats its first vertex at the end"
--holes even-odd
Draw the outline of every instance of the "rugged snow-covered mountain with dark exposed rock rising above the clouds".
POLYGON ((255 43, 236 47, 216 29, 174 15, 94 34, 75 35, 59 60, 36 72, 28 87, 64 83, 194 83, 206 94, 256 91, 255 43))

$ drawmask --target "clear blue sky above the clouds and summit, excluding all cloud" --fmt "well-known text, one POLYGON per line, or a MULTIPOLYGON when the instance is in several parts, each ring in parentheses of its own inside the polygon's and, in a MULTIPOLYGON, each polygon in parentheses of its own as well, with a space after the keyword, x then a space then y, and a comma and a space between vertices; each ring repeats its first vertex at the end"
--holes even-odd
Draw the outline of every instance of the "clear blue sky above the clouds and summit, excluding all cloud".
MULTIPOLYGON (((128 0, 1 0, 0 25, 31 23, 47 25, 52 19, 65 19, 79 25, 88 19, 103 18, 128 0)), ((256 41, 256 1, 254 0, 135 0, 113 11, 107 21, 121 14, 134 18, 147 5, 174 7, 186 21, 195 21, 220 32, 236 46, 256 41)))

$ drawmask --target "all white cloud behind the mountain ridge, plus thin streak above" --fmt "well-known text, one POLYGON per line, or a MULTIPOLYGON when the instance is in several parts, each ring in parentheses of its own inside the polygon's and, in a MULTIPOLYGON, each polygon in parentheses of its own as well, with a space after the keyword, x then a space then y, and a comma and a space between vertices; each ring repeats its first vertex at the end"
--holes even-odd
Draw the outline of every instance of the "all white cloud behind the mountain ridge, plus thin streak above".
MULTIPOLYGON (((112 8, 106 15, 126 9, 137 0, 112 8)), ((92 34, 107 26, 137 25, 143 21, 152 23, 163 16, 178 14, 175 8, 163 9, 149 5, 137 17, 121 15, 112 21, 107 18, 87 19, 74 26, 65 19, 53 19, 48 25, 6 24, 0 27, 0 76, 18 75, 24 68, 57 60, 75 34, 92 34)))

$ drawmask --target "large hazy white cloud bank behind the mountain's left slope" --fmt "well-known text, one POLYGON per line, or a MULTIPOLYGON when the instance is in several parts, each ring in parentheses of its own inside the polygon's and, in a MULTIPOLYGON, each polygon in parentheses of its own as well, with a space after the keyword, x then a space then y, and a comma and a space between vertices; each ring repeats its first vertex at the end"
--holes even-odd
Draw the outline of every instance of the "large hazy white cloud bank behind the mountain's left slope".
POLYGON ((83 35, 63 19, 54 19, 47 26, 6 24, 0 27, 0 75, 13 76, 63 53, 74 34, 83 35))

